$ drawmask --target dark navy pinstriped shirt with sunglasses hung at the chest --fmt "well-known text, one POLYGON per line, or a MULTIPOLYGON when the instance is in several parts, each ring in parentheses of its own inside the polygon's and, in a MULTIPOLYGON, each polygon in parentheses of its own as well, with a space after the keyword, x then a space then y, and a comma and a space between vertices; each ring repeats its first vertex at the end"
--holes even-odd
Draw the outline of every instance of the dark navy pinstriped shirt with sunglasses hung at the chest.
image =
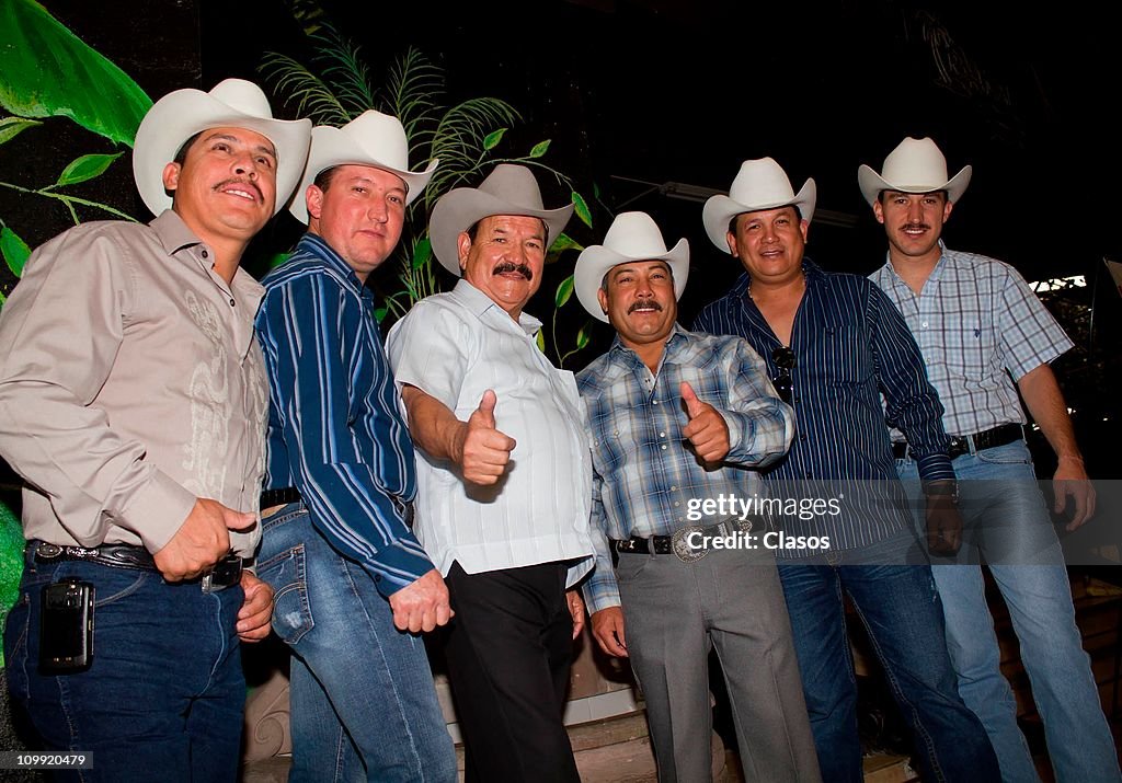
MULTIPOLYGON (((833 549, 865 546, 910 526, 885 418, 907 435, 923 479, 954 478, 942 405, 908 324, 880 288, 864 277, 822 271, 810 259, 802 269, 807 289, 791 331, 798 435, 765 478, 799 495, 813 482, 824 482, 819 490, 848 491, 840 515, 795 532, 829 533, 833 549)), ((747 339, 774 378, 772 352, 782 343, 748 296, 748 284, 742 275, 693 328, 747 339)))

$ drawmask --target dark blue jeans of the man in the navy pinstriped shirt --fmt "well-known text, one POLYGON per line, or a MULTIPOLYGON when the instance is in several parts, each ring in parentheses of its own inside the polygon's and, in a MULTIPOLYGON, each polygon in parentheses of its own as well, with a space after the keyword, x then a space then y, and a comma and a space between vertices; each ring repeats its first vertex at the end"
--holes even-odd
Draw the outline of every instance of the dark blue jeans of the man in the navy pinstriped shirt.
POLYGON ((853 599, 912 730, 925 780, 997 779, 993 749, 955 689, 930 568, 884 564, 902 560, 911 544, 905 534, 856 552, 833 552, 831 564, 780 561, 810 728, 827 783, 863 780, 843 590, 853 599))

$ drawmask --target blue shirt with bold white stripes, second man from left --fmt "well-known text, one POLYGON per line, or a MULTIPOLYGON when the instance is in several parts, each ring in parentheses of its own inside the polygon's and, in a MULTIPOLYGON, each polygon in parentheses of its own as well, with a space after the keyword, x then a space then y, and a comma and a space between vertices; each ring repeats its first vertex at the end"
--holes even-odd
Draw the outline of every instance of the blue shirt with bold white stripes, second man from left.
POLYGON ((263 284, 265 486, 298 489, 316 528, 390 596, 433 565, 405 524, 404 504, 416 495, 413 443, 374 294, 313 233, 263 284))

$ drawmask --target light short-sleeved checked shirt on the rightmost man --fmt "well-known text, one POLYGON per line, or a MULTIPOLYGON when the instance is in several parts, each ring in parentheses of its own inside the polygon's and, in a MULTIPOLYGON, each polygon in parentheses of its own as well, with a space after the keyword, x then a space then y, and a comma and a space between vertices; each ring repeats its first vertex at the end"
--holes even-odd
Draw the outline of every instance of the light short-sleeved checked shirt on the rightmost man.
POLYGON ((951 435, 1023 424, 1013 381, 1073 346, 1024 278, 993 258, 942 247, 919 295, 891 264, 870 277, 916 337, 951 435))

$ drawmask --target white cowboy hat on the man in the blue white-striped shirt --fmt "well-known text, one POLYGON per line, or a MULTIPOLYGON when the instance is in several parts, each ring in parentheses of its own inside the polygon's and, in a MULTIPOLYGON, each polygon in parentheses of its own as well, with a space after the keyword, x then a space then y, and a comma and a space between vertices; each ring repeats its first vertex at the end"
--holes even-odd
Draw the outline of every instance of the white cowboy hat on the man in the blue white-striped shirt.
POLYGON ((307 222, 307 202, 304 192, 320 173, 332 166, 373 166, 396 174, 405 183, 405 205, 424 192, 432 173, 440 164, 429 162, 423 172, 410 171, 410 142, 405 128, 396 117, 368 109, 342 128, 316 126, 312 129, 312 151, 296 195, 288 211, 302 223, 307 222))

